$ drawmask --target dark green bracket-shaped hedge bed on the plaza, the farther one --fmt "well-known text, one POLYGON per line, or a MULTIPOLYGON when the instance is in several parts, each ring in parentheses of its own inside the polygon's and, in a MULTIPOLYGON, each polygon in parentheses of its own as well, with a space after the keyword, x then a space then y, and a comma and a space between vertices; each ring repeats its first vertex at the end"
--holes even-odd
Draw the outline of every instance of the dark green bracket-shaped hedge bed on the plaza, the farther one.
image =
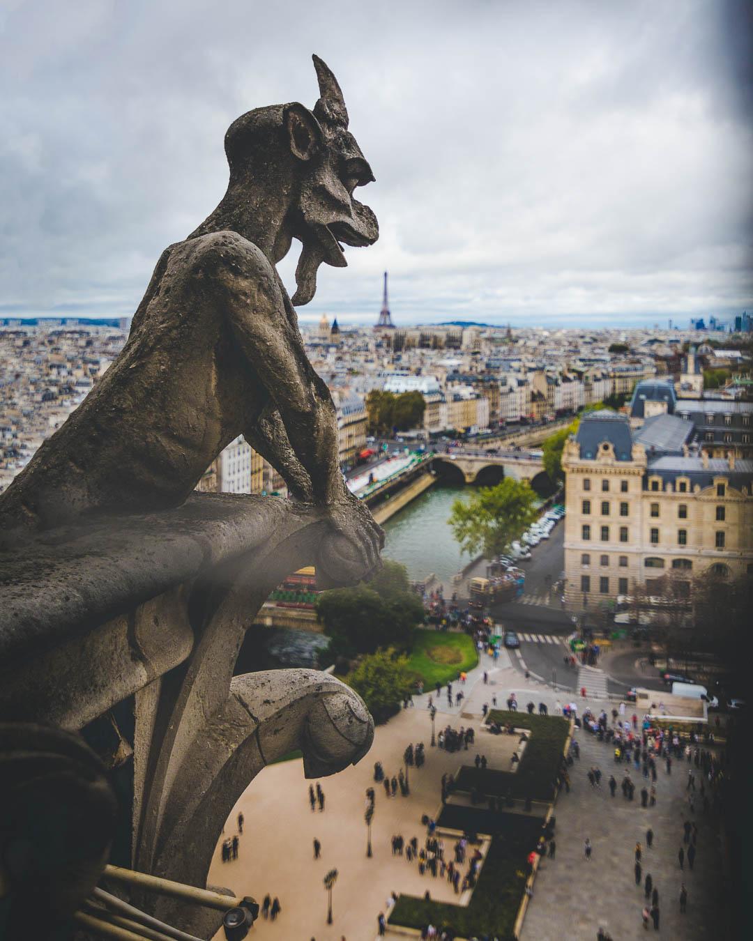
POLYGON ((530 797, 534 801, 551 801, 555 777, 568 739, 568 720, 553 715, 529 715, 527 712, 505 710, 491 710, 489 714, 501 725, 511 722, 516 728, 531 730, 520 767, 516 772, 507 772, 464 765, 457 777, 458 789, 470 791, 476 787, 481 794, 494 797, 504 797, 509 789, 512 796, 520 800, 530 797))

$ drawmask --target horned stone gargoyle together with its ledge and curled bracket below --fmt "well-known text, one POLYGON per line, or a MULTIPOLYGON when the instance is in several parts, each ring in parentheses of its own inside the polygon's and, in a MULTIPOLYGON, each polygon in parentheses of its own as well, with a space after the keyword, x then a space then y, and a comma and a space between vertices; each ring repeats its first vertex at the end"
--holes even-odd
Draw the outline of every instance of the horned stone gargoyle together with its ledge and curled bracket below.
MULTIPOLYGON (((378 234, 353 199, 371 167, 337 81, 314 65, 313 110, 273 105, 232 123, 224 198, 163 252, 119 358, 0 494, 9 939, 31 936, 40 897, 47 923, 35 923, 36 938, 80 905, 91 916, 116 827, 128 836, 120 865, 205 885, 222 824, 264 765, 299 748, 307 776, 333 774, 371 745, 373 720, 339 680, 233 676, 281 577, 315 561, 323 586, 357 582, 383 544, 344 486, 335 409, 293 308, 312 299, 321 263, 345 264, 341 243, 378 234), (291 301, 275 264, 294 238, 291 301), (293 502, 192 495, 238 435, 280 471, 293 502), (107 730, 117 747, 97 744, 107 730)), ((202 937, 216 931, 206 912, 136 901, 202 937)))

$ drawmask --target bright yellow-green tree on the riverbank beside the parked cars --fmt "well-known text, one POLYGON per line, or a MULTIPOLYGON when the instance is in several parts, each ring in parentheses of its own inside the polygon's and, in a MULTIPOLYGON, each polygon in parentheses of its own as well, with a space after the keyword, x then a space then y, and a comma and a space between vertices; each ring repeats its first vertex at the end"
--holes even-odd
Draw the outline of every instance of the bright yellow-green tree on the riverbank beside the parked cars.
POLYGON ((505 477, 453 503, 449 523, 462 549, 490 559, 509 549, 537 518, 536 493, 528 481, 505 477))

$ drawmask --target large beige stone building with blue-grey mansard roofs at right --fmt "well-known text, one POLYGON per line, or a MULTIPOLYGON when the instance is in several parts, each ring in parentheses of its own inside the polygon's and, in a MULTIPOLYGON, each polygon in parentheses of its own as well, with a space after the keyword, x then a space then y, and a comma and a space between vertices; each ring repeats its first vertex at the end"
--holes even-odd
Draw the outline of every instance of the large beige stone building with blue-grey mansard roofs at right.
POLYGON ((565 444, 565 597, 598 608, 636 584, 753 574, 753 461, 712 458, 672 415, 587 414, 565 444))

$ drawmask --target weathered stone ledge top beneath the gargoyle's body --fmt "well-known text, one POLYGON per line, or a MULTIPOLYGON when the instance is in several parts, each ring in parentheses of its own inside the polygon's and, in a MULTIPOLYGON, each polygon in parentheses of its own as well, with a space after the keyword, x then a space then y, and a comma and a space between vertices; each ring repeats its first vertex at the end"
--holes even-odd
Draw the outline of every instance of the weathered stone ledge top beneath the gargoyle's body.
POLYGON ((321 523, 276 497, 194 494, 160 513, 100 517, 0 551, 0 661, 68 640, 265 543, 321 523))

